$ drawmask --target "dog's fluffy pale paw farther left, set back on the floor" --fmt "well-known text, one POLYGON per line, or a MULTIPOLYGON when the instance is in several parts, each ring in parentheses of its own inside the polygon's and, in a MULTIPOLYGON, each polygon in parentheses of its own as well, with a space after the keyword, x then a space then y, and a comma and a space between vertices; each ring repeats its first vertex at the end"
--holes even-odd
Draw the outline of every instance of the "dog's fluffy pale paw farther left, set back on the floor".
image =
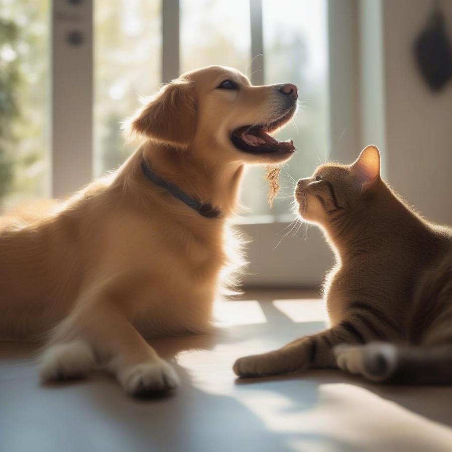
POLYGON ((42 382, 83 378, 96 365, 91 347, 81 340, 50 346, 40 361, 42 382))

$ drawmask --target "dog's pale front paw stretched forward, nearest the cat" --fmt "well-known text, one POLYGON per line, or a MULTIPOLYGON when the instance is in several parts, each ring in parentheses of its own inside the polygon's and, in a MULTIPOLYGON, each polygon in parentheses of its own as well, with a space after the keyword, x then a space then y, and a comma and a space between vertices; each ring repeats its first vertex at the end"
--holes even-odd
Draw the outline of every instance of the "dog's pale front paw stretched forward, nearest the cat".
POLYGON ((126 392, 135 397, 152 396, 179 386, 176 372, 164 360, 128 368, 120 373, 119 380, 126 392))

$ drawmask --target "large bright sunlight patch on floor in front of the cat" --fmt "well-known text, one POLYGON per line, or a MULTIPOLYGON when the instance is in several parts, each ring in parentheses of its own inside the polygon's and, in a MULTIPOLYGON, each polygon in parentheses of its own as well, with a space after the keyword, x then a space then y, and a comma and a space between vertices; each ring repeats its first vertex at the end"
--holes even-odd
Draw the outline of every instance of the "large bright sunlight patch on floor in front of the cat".
MULTIPOLYGON (((253 389, 252 385, 250 389, 253 389)), ((247 391, 241 394, 240 402, 258 416, 269 430, 287 435, 288 439, 290 435, 306 434, 308 439, 314 442, 317 439, 319 444, 325 446, 326 440, 331 438, 331 443, 336 445, 334 450, 342 450, 338 445, 347 450, 352 440, 353 444, 358 445, 354 450, 365 450, 370 442, 384 443, 390 437, 389 443, 405 447, 383 447, 381 450, 421 451, 427 450, 427 442, 432 445, 428 450, 443 450, 441 447, 452 438, 452 433, 444 425, 355 385, 317 385, 300 381, 296 393, 284 391, 283 386, 274 385, 272 389, 269 386, 267 391, 247 391), (418 436, 416 439, 412 438, 413 427, 418 436), (311 436, 313 431, 315 435, 311 436), (422 444, 419 438, 429 439, 422 444)), ((292 439, 295 450, 315 450, 306 448, 306 443, 301 447, 303 442, 292 439)), ((320 450, 329 449, 326 447, 320 450)))

